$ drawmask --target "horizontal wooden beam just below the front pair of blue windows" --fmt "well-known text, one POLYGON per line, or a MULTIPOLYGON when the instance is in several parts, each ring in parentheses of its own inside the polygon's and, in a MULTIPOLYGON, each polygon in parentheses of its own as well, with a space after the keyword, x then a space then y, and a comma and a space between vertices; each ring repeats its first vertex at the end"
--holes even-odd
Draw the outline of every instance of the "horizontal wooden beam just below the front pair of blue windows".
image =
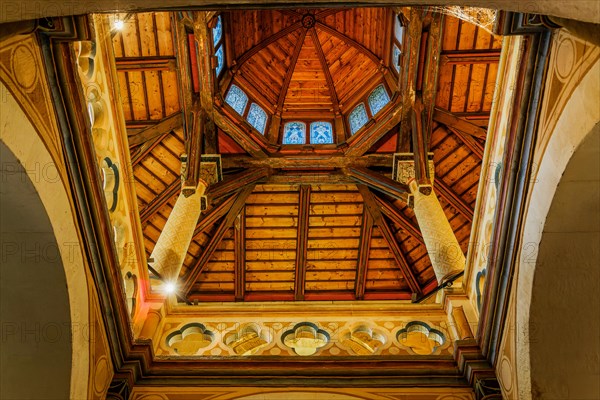
POLYGON ((344 156, 344 153, 335 154, 310 154, 287 157, 270 157, 257 159, 249 156, 222 155, 221 162, 223 169, 230 168, 282 168, 282 169, 302 169, 302 168, 344 168, 354 167, 393 167, 392 154, 367 154, 364 156, 344 156))

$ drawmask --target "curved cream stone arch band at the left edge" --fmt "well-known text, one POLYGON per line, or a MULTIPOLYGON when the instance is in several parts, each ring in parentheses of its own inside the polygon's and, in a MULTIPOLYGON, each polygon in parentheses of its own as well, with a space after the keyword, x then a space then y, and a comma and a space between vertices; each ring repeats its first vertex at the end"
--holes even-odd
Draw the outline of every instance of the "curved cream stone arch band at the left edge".
MULTIPOLYGON (((66 190, 68 184, 62 181, 58 166, 44 142, 36 132, 25 112, 21 109, 11 92, 0 83, 0 92, 3 94, 2 113, 0 113, 0 143, 3 154, 12 154, 17 164, 10 168, 20 167, 23 181, 29 181, 31 192, 29 198, 37 196, 36 207, 40 208, 39 215, 45 215, 45 234, 52 237, 57 250, 56 257, 62 271, 63 284, 58 289, 65 290, 68 320, 67 326, 62 325, 61 334, 69 335, 69 378, 67 381, 67 396, 69 398, 83 399, 88 397, 88 379, 90 362, 90 325, 89 325, 89 292, 86 275, 86 264, 83 258, 82 246, 77 233, 76 219, 71 209, 69 195, 66 190), (4 150, 6 149, 6 150, 4 150), (66 284, 66 285, 65 285, 66 284)), ((4 163, 4 160, 2 160, 4 163)), ((2 166, 4 177, 5 165, 2 166)), ((2 184, 5 190, 4 182, 2 184)), ((39 218, 38 218, 39 220, 39 218)), ((38 221, 42 224, 44 221, 38 221)), ((12 229, 12 228, 7 228, 12 229)), ((4 232, 4 226, 3 226, 4 232)), ((42 253, 43 255, 43 253, 42 253)), ((41 257, 41 255, 40 255, 41 257)), ((3 263, 4 268, 4 263, 3 263)), ((4 280, 4 275, 3 275, 4 280)), ((4 282, 3 282, 4 283, 4 282)), ((32 294, 35 297, 35 293, 32 294)), ((36 298, 39 305, 47 308, 51 298, 36 298)), ((63 321, 60 321, 62 324, 63 321)), ((53 363, 48 363, 48 368, 53 369, 53 363)), ((30 386, 35 381, 35 373, 29 373, 30 386)), ((38 381, 49 381, 49 379, 37 379, 38 381)), ((30 388, 22 388, 29 390, 30 388)), ((41 396, 25 395, 21 398, 43 398, 41 396)), ((53 398, 65 398, 56 396, 53 398)))

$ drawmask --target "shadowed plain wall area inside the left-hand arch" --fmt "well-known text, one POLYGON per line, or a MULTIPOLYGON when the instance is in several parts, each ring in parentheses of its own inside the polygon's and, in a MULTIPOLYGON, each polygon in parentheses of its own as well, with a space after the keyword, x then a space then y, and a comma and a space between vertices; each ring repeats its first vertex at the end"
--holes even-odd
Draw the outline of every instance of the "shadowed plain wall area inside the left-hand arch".
POLYGON ((59 243, 31 179, 3 142, 0 160, 0 397, 66 399, 72 330, 59 243))

